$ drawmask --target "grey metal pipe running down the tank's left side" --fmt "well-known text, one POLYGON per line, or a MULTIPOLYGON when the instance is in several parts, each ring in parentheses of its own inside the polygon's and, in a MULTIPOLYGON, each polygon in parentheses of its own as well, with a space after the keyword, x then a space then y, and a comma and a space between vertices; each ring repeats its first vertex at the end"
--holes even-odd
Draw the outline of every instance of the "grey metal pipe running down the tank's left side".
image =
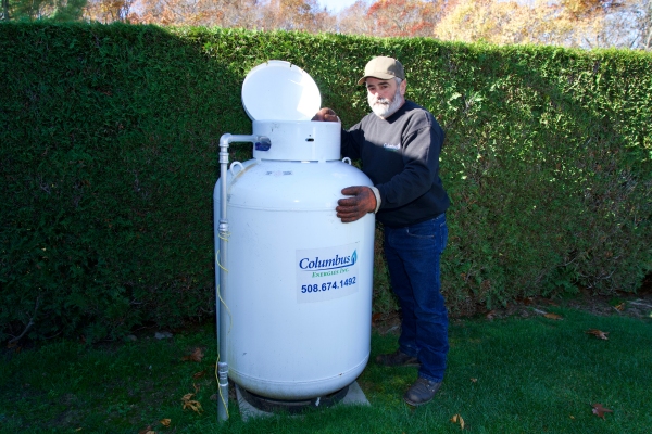
POLYGON ((264 136, 234 136, 223 135, 220 138, 220 218, 217 231, 220 234, 220 263, 215 264, 215 327, 217 329, 217 352, 220 360, 217 362, 217 381, 220 387, 220 399, 217 399, 217 421, 222 422, 228 419, 228 358, 226 345, 226 330, 228 330, 228 321, 226 318, 226 308, 224 298, 227 291, 226 272, 223 272, 220 267, 226 266, 227 258, 227 238, 228 238, 228 219, 226 216, 226 192, 227 192, 227 174, 228 174, 228 146, 233 142, 251 142, 269 144, 269 139, 264 136))

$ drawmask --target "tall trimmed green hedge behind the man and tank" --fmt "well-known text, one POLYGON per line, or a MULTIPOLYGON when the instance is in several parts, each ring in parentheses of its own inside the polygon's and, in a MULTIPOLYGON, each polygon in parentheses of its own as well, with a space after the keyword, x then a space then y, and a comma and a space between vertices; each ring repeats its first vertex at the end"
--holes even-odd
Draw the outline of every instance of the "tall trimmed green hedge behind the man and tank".
MULTIPOLYGON (((214 311, 217 140, 247 72, 292 62, 344 126, 377 54, 447 131, 452 310, 635 291, 652 270, 652 56, 129 25, 0 25, 0 340, 120 336, 214 311)), ((234 146, 247 159, 248 146, 234 146)), ((381 257, 375 309, 396 307, 381 257)))

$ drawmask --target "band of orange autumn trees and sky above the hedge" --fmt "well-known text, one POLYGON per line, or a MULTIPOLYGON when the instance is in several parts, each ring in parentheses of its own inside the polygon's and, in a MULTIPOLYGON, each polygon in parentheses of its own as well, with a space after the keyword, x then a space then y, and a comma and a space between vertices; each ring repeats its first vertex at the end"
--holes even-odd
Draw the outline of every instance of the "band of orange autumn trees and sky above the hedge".
POLYGON ((650 50, 649 0, 4 0, 4 20, 128 22, 650 50))

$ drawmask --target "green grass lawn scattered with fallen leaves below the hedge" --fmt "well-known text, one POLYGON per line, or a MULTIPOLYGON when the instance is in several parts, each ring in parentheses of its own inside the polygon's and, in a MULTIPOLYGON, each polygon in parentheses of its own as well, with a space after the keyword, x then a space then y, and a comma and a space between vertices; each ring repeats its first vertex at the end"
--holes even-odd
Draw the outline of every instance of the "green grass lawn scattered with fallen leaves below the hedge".
MULTIPOLYGON (((70 341, 0 353, 1 433, 650 433, 652 319, 548 309, 561 319, 451 321, 449 368, 432 403, 412 408, 403 392, 415 368, 371 362, 358 382, 369 407, 337 406, 301 417, 216 422, 211 326, 156 340, 86 346, 70 341), (587 334, 609 332, 609 340, 587 334), (184 360, 200 347, 201 361, 184 360), (183 409, 181 397, 203 411, 183 409), (613 410, 604 419, 592 405, 613 410), (165 426, 161 421, 170 423, 165 426)), ((149 336, 148 336, 149 334, 149 336)), ((377 331, 372 358, 397 335, 377 331)))

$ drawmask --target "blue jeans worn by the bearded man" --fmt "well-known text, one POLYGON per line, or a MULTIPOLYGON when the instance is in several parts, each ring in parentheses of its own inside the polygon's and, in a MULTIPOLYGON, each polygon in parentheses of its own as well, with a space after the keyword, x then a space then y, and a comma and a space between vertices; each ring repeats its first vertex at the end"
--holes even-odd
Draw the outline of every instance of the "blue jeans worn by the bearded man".
POLYGON ((418 358, 418 376, 436 382, 443 380, 449 349, 439 271, 447 240, 444 214, 408 227, 385 227, 385 257, 403 314, 399 349, 418 358))

